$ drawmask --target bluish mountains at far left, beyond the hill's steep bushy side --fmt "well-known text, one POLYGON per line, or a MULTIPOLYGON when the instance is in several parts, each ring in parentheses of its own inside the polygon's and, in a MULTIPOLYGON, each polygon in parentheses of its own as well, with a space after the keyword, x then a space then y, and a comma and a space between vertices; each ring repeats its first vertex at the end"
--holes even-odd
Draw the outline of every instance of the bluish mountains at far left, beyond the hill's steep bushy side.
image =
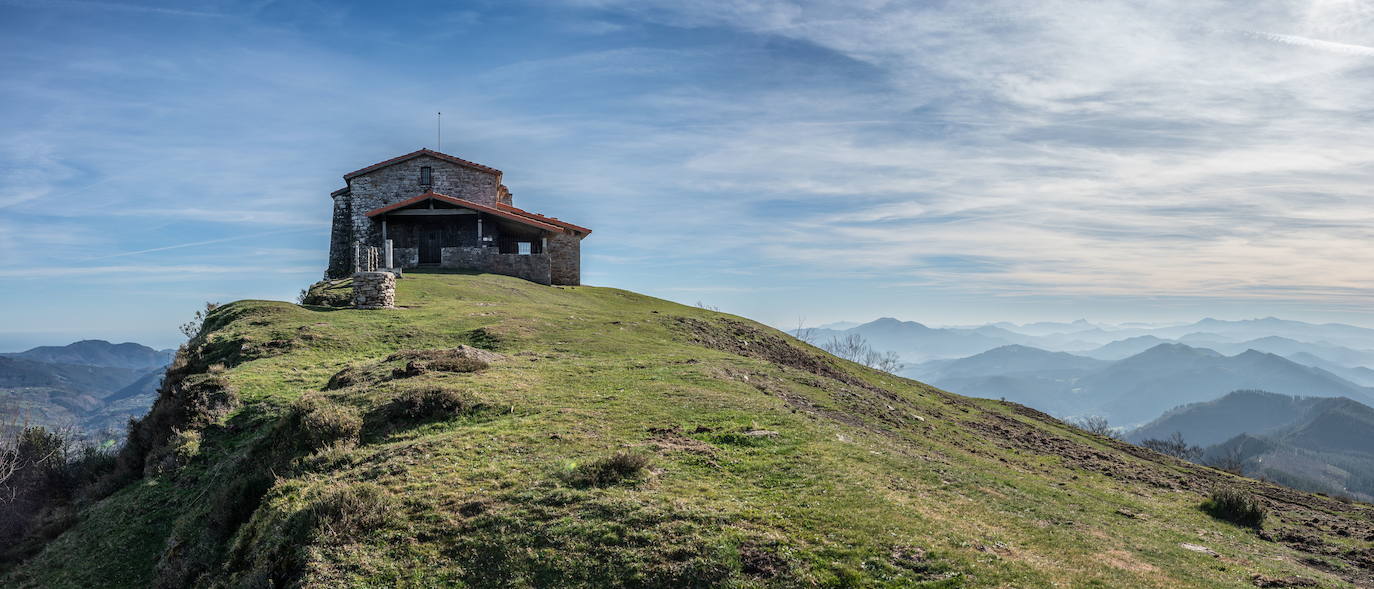
POLYGON ((121 431, 153 404, 173 353, 88 339, 0 354, 0 427, 121 431))

